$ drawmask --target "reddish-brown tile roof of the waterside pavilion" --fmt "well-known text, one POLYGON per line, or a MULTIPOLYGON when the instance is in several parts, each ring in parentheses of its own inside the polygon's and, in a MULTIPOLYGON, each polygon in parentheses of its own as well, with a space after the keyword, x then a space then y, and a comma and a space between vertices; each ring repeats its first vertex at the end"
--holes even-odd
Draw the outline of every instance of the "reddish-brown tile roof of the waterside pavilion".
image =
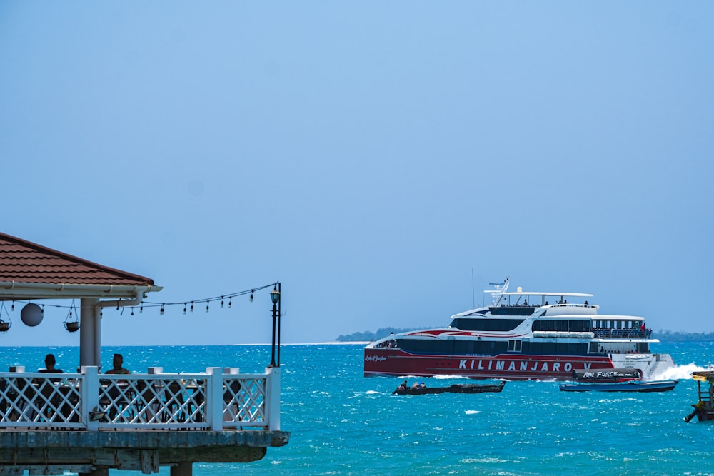
POLYGON ((0 281, 16 283, 149 286, 154 280, 107 268, 0 233, 0 281))

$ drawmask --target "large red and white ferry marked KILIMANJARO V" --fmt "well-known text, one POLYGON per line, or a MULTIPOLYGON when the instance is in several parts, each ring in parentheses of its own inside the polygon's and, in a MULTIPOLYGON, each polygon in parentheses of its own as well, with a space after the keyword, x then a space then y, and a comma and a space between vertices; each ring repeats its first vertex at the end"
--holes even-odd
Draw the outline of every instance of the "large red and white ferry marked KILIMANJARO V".
POLYGON ((570 380, 573 370, 639 370, 643 380, 674 366, 650 352, 644 318, 600 315, 584 293, 508 292, 495 286, 493 302, 453 315, 447 328, 390 335, 364 349, 364 375, 459 375, 506 380, 570 380))

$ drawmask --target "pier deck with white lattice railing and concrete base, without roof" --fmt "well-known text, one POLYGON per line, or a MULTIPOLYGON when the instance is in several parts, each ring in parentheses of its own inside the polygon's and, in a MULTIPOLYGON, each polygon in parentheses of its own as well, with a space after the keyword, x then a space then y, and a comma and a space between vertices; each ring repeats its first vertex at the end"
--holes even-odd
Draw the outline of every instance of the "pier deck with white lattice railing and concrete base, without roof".
POLYGON ((251 462, 286 445, 280 369, 240 374, 0 373, 0 474, 191 475, 193 462, 251 462), (61 379, 61 380, 59 380, 61 379))

